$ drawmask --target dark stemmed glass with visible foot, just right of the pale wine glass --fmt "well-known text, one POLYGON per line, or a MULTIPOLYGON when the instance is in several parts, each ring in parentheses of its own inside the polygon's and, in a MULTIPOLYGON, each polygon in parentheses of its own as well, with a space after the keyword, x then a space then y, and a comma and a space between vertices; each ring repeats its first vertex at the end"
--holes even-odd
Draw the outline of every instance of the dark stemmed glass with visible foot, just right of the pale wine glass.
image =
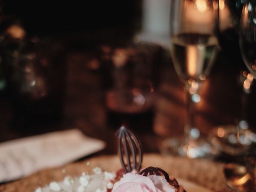
POLYGON ((239 23, 244 0, 218 0, 218 41, 224 54, 237 73, 241 92, 241 112, 234 124, 220 125, 210 132, 212 143, 222 152, 241 155, 253 144, 253 134, 247 121, 247 100, 251 93, 253 76, 246 68, 239 48, 239 23))

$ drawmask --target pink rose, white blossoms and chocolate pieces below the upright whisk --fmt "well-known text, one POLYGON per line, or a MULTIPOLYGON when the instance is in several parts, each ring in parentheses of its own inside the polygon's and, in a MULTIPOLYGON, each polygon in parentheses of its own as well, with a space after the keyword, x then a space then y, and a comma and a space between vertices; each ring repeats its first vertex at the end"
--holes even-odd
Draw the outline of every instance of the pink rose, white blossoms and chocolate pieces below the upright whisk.
POLYGON ((60 182, 52 181, 43 188, 36 188, 34 192, 130 192, 140 188, 154 192, 186 192, 177 180, 169 178, 166 172, 144 175, 145 171, 153 169, 161 170, 148 167, 138 174, 124 174, 122 169, 118 172, 107 172, 95 167, 80 176, 66 176, 60 182))

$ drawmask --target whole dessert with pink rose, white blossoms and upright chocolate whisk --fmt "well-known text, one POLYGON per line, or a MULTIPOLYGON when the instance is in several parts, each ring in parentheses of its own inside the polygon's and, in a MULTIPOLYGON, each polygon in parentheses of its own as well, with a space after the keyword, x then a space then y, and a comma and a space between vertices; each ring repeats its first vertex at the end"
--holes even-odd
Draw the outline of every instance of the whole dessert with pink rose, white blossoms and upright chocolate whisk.
POLYGON ((61 182, 53 181, 35 192, 186 192, 161 168, 150 166, 141 170, 142 147, 132 131, 121 126, 117 136, 122 169, 108 172, 95 167, 80 177, 66 176, 61 182))

